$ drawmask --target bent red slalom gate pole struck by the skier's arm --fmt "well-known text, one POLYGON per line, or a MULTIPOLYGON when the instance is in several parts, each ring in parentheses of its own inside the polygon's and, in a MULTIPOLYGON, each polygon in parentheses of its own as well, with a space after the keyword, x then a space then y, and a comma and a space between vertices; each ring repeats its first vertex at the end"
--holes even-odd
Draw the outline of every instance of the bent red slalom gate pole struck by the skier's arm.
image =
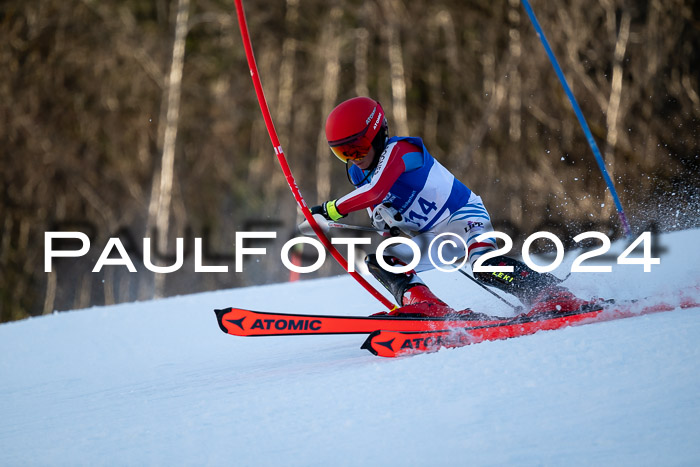
POLYGON ((253 80, 255 94, 258 97, 258 104, 260 105, 260 110, 263 114, 263 119, 265 120, 265 127, 267 127, 267 133, 270 135, 272 147, 275 149, 275 154, 277 154, 277 160, 280 163, 280 167, 282 167, 282 172, 284 173, 284 176, 287 179, 287 184, 292 190, 294 199, 301 208, 301 213, 309 222, 309 225, 311 225, 311 228, 313 229, 314 233, 321 241, 323 246, 326 247, 326 249, 331 253, 333 258, 335 258, 335 260, 338 261, 338 263, 343 267, 343 269, 345 269, 348 272, 348 274, 350 274, 357 282, 359 282, 360 285, 365 288, 365 290, 372 294, 374 298, 382 302, 382 304, 386 306, 389 310, 393 310, 394 308, 396 308, 396 306, 393 303, 391 303, 384 295, 379 293, 377 289, 372 287, 372 285, 369 282, 367 282, 364 277, 359 275, 357 272, 349 271, 348 262, 345 260, 343 255, 340 254, 337 248, 333 246, 328 237, 326 237, 326 235, 323 233, 318 223, 311 215, 311 211, 309 211, 309 207, 306 205, 306 201, 304 201, 304 198, 301 196, 301 193, 299 192, 299 187, 297 186, 297 183, 294 180, 294 176, 292 175, 292 171, 289 168, 289 164, 287 163, 287 158, 284 156, 284 151, 282 151, 282 145, 280 144, 279 138, 277 137, 275 125, 272 123, 270 109, 267 106, 265 93, 263 92, 262 84, 260 82, 258 66, 255 62, 255 55, 253 55, 253 46, 250 42, 250 35, 248 34, 248 25, 245 20, 245 12, 243 11, 243 1, 234 1, 236 4, 236 14, 238 16, 238 26, 241 30, 241 37, 243 39, 243 48, 245 49, 245 55, 248 61, 248 68, 250 70, 250 77, 253 80))

